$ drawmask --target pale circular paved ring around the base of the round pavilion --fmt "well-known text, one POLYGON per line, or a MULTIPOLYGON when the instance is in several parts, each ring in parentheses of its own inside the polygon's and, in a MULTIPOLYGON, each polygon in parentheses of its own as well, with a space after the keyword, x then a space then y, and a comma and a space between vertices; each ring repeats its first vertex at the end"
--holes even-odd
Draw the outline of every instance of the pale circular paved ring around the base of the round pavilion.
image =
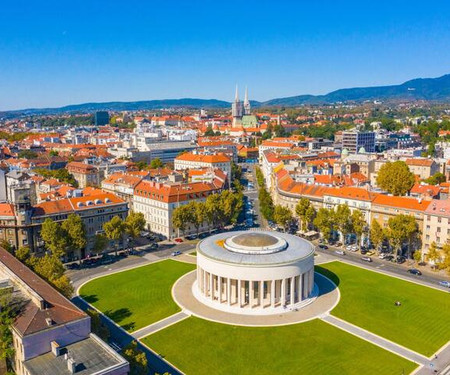
POLYGON ((296 324, 326 314, 336 306, 340 298, 336 285, 331 280, 316 273, 315 281, 319 287, 319 296, 309 305, 299 308, 298 311, 274 315, 234 314, 208 307, 194 297, 192 285, 196 275, 196 271, 192 271, 177 280, 172 288, 173 299, 186 314, 225 324, 254 327, 296 324))

